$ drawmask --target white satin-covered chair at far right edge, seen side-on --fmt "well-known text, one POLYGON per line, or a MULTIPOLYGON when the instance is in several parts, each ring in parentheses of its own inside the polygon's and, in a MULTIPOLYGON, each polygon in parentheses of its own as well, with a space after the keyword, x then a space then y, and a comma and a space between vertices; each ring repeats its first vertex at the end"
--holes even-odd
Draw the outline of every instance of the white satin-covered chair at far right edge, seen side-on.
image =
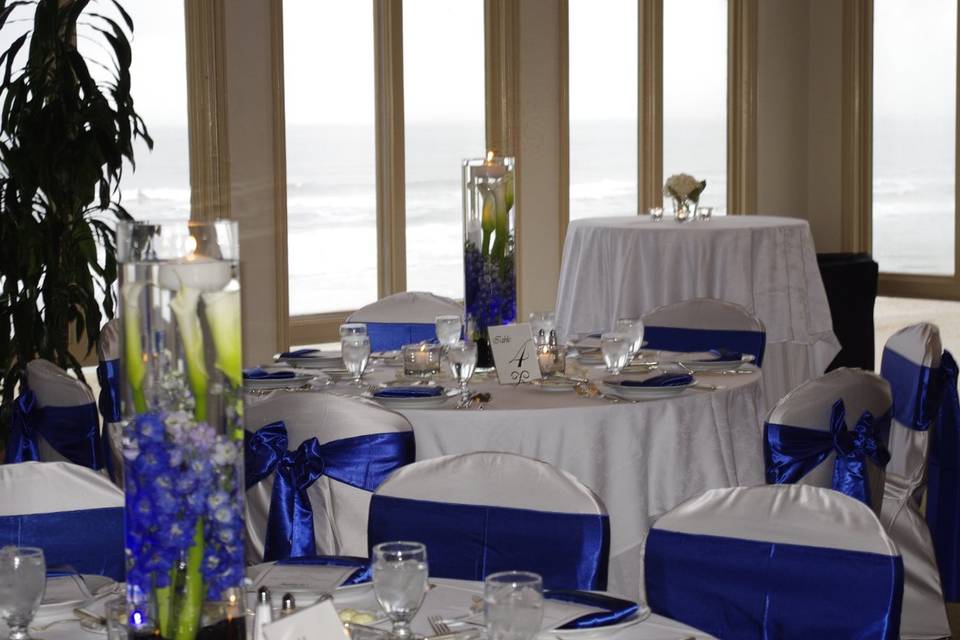
MULTIPOLYGON (((910 325, 893 334, 884 349, 881 374, 894 389, 893 420, 890 424, 890 463, 886 469, 883 510, 880 520, 903 555, 904 592, 901 638, 946 638, 950 625, 943 603, 940 573, 930 529, 920 512, 920 500, 926 485, 927 462, 933 424, 908 424, 902 421, 912 400, 921 396, 923 369, 940 367, 940 330, 936 325, 910 325), (903 371, 903 365, 911 371, 903 371), (903 410, 901 410, 903 409, 903 410), (898 419, 899 417, 899 419, 898 419)), ((935 414, 934 414, 935 415, 935 414)))

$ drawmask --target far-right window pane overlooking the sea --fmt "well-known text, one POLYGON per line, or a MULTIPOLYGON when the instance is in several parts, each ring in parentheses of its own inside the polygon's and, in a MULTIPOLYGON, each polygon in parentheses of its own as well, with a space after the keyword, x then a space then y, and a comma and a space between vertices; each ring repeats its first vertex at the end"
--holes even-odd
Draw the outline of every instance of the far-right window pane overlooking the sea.
POLYGON ((957 3, 875 0, 873 257, 954 272, 957 3))

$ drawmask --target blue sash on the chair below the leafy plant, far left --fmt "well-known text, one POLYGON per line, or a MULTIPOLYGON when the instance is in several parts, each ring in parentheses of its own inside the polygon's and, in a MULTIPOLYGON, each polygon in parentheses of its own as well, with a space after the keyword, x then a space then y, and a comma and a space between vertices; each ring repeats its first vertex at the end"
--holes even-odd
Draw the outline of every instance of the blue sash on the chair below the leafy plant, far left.
POLYGON ((24 389, 13 403, 4 462, 40 460, 38 436, 74 464, 94 470, 103 467, 100 423, 97 407, 92 402, 75 407, 41 408, 36 394, 24 389))

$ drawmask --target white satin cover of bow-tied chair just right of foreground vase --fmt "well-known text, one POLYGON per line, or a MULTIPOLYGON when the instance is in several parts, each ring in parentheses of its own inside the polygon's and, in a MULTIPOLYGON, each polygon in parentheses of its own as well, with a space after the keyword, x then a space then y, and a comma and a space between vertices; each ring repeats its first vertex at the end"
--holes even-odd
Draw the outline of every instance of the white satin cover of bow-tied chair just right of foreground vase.
MULTIPOLYGON (((260 398, 248 397, 245 419, 248 432, 282 421, 290 451, 311 438, 323 445, 369 434, 413 432, 407 419, 398 413, 327 393, 275 391, 260 398)), ((247 491, 247 558, 251 563, 263 559, 272 492, 273 476, 247 491)), ((313 510, 317 553, 366 556, 371 493, 321 476, 307 489, 307 495, 313 510)))

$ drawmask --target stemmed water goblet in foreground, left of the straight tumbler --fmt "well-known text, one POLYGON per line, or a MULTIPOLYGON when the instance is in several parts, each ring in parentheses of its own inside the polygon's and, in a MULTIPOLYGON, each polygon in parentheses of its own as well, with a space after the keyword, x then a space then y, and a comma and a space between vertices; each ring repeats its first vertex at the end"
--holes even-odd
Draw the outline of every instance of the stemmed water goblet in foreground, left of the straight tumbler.
POLYGON ((393 622, 393 637, 413 637, 410 621, 427 593, 427 548, 419 542, 382 542, 373 548, 373 590, 393 622))

